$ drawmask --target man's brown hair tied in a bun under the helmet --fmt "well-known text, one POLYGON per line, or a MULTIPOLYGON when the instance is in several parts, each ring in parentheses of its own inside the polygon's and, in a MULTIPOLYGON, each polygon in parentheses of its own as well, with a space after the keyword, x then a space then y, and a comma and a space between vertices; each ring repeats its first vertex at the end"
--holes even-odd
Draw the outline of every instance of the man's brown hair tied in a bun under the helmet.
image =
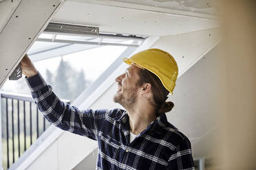
MULTIPOLYGON (((153 106, 158 110, 158 115, 172 110, 174 104, 171 101, 166 101, 169 91, 164 88, 162 82, 155 74, 151 73, 147 69, 139 69, 138 75, 140 79, 136 83, 136 86, 142 86, 145 83, 151 84, 151 90, 153 93, 153 106)), ((152 103, 152 102, 151 102, 152 103)))

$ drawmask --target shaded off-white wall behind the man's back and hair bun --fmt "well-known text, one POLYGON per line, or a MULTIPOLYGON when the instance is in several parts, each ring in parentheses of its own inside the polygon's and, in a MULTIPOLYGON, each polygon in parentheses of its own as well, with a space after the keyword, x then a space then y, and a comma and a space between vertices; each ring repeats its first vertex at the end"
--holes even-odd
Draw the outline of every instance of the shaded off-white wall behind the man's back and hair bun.
POLYGON ((168 119, 190 138, 194 158, 213 156, 215 135, 220 130, 215 116, 218 108, 225 106, 218 94, 226 93, 226 59, 219 53, 217 45, 178 79, 173 96, 169 95, 175 108, 168 119))

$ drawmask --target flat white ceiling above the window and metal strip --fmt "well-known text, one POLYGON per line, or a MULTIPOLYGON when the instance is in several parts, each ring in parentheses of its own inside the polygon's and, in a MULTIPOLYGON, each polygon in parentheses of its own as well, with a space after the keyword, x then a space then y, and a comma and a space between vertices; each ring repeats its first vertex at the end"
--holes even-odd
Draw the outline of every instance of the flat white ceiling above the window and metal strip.
MULTIPOLYGON (((52 21, 96 26, 100 32, 142 36, 175 35, 219 27, 216 16, 203 14, 211 13, 212 9, 195 8, 198 12, 191 12, 194 8, 186 6, 193 6, 189 2, 173 5, 178 2, 170 1, 162 8, 164 3, 156 7, 156 1, 140 1, 140 4, 137 1, 65 1, 52 21)), ((194 2, 201 7, 199 1, 194 2)))

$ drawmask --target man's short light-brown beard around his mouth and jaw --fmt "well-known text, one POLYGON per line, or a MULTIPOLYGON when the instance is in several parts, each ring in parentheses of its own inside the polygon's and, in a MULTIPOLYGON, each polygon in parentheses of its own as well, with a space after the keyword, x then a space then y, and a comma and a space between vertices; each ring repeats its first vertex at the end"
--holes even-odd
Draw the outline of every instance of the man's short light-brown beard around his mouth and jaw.
POLYGON ((137 101, 136 91, 136 88, 129 90, 123 89, 122 93, 121 91, 116 92, 113 100, 115 103, 122 105, 122 107, 124 107, 126 110, 132 110, 137 101))

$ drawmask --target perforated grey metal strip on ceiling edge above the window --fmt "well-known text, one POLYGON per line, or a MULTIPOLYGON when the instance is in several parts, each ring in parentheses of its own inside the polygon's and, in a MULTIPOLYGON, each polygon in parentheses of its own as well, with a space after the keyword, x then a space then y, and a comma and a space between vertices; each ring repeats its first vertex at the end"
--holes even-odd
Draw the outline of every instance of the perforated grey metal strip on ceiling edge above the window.
POLYGON ((45 32, 59 32, 59 33, 69 33, 69 34, 92 34, 98 35, 98 27, 89 27, 82 25, 71 25, 65 23, 49 23, 44 30, 45 32))

